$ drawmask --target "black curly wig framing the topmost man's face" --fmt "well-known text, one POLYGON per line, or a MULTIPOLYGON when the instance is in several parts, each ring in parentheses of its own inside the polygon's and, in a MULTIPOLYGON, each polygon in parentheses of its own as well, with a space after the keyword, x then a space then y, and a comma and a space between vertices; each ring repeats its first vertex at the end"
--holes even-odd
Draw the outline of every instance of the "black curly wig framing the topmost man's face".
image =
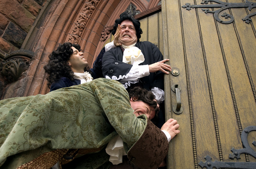
POLYGON ((130 15, 127 12, 121 13, 120 18, 116 19, 112 34, 115 35, 118 24, 121 25, 121 23, 126 19, 132 21, 132 24, 134 25, 136 30, 136 36, 138 39, 137 42, 139 42, 142 34, 142 29, 140 28, 140 21, 137 19, 134 19, 134 15, 130 15))

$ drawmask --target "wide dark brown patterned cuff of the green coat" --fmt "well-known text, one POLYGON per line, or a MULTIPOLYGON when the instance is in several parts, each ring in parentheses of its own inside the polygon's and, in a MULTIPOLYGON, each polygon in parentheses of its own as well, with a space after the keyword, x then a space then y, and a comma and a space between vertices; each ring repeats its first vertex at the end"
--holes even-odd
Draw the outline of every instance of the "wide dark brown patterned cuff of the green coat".
POLYGON ((127 157, 136 167, 156 169, 166 157, 168 147, 164 132, 148 120, 144 133, 128 151, 127 157))

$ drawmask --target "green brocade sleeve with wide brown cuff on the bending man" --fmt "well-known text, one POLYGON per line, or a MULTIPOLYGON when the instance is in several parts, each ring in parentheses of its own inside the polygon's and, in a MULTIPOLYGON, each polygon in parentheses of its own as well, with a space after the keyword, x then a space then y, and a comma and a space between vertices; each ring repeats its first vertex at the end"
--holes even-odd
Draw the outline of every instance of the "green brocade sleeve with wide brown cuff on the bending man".
POLYGON ((140 168, 157 168, 168 152, 165 134, 145 115, 133 114, 128 93, 118 81, 97 79, 92 89, 109 123, 127 144, 129 160, 140 168))

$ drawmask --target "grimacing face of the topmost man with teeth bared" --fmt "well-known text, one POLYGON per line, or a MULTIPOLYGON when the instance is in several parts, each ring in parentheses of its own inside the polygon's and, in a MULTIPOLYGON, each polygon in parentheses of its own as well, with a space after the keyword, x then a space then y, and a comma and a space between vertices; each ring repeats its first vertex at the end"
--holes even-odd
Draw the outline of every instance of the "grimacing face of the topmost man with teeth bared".
POLYGON ((132 45, 137 42, 136 30, 132 21, 126 19, 120 24, 121 32, 118 38, 118 42, 122 45, 132 45))

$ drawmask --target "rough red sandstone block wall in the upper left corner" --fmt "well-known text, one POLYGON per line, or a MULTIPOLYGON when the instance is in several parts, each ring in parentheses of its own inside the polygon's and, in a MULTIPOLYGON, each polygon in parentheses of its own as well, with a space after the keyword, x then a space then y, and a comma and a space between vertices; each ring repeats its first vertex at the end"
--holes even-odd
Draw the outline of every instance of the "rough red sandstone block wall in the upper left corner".
POLYGON ((0 60, 19 50, 45 0, 0 1, 0 60))

